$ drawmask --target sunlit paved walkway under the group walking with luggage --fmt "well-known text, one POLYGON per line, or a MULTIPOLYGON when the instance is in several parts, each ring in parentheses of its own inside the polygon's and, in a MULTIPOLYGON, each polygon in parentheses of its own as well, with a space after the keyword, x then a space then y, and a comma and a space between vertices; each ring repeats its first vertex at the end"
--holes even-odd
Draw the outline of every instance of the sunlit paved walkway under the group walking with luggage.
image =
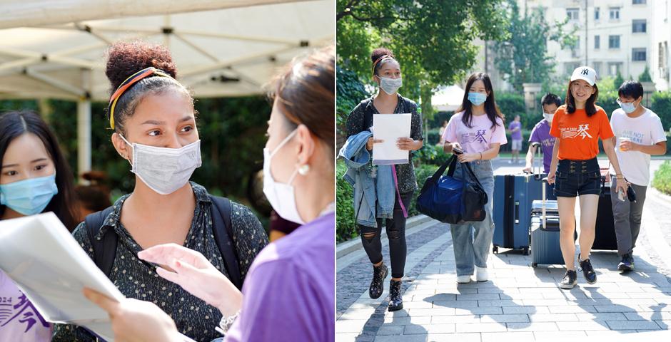
POLYGON ((594 252, 597 284, 579 274, 570 291, 557 286, 563 267, 533 269, 530 256, 505 249, 490 254, 490 281, 458 285, 448 225, 420 223, 408 229, 403 310, 386 311, 388 279, 380 299, 368 298, 372 268, 362 249, 338 258, 336 341, 659 341, 631 333, 671 332, 669 222, 671 197, 651 192, 636 271, 620 274, 615 252, 594 252))

